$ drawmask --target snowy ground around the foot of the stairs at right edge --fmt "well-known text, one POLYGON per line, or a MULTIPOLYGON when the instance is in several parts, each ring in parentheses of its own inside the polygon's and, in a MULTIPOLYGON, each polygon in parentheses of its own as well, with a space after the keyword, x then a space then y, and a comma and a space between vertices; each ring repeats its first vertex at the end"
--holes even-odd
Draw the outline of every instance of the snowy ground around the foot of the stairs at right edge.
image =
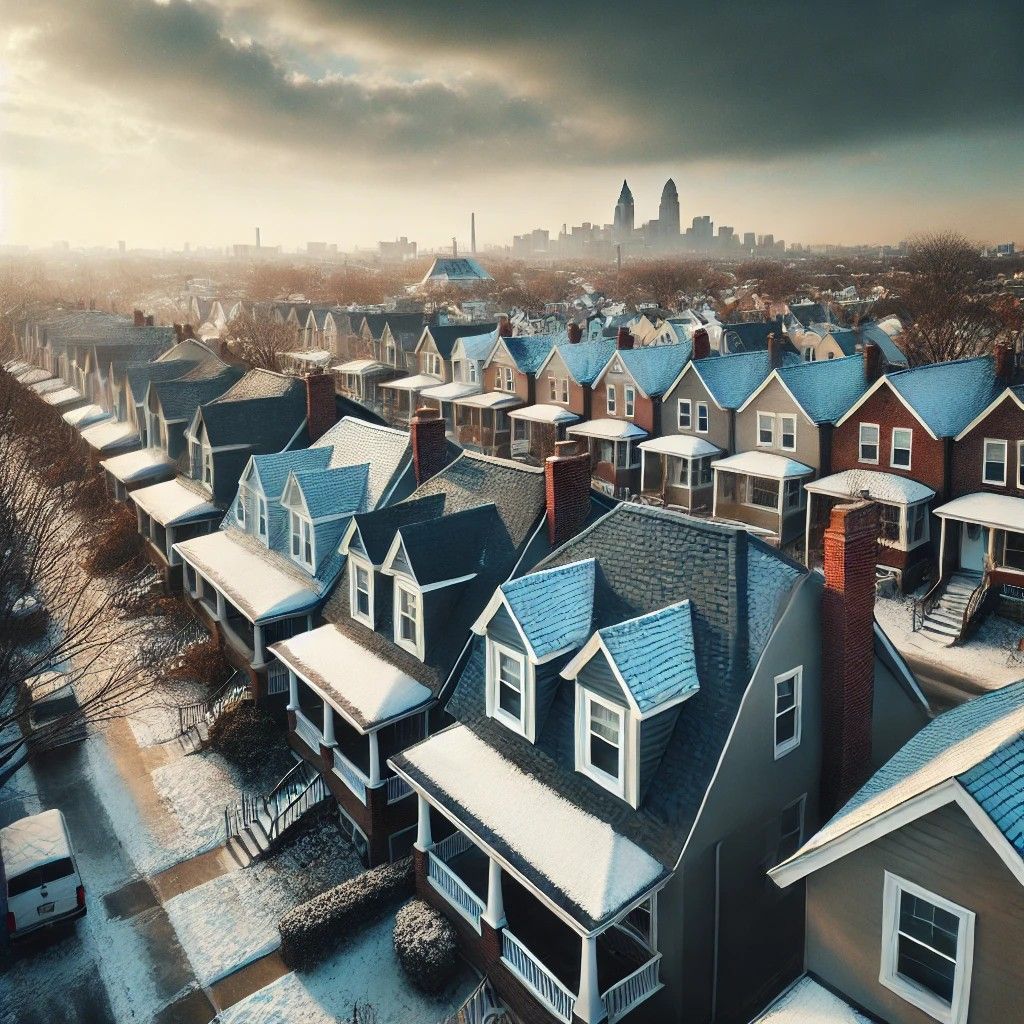
POLYGON ((920 631, 913 632, 913 598, 907 594, 880 597, 874 602, 879 625, 905 655, 970 676, 985 689, 998 689, 1024 679, 1024 655, 1017 652, 1024 625, 988 615, 966 644, 943 647, 920 631))

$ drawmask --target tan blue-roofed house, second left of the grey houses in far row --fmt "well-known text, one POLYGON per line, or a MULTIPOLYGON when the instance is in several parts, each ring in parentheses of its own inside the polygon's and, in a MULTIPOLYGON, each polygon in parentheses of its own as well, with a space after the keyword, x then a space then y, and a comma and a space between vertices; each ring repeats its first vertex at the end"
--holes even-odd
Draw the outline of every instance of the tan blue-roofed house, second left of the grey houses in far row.
POLYGON ((573 424, 592 415, 592 386, 615 351, 607 339, 583 340, 583 329, 569 324, 568 340, 556 343, 537 368, 535 399, 509 413, 511 455, 541 464, 554 455, 573 424))

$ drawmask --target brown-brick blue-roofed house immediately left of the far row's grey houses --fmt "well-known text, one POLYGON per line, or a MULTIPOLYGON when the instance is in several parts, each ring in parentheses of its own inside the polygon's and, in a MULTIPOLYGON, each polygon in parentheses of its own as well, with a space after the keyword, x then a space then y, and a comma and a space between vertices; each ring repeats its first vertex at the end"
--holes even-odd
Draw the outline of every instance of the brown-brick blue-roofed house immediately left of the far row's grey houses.
POLYGON ((566 429, 586 440, 592 482, 612 498, 640 490, 641 441, 656 436, 662 397, 689 360, 690 344, 634 348, 620 328, 616 348, 592 385, 592 419, 566 429))

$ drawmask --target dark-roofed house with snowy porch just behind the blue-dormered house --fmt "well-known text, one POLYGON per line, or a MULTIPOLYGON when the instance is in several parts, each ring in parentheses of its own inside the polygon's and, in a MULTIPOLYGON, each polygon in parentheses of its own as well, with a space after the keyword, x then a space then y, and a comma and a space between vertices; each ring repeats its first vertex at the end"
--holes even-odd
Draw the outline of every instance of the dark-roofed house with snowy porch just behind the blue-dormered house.
POLYGON ((129 494, 147 554, 170 588, 181 587, 175 544, 217 528, 250 457, 305 447, 335 419, 334 386, 326 374, 299 379, 251 370, 196 409, 177 476, 129 494))

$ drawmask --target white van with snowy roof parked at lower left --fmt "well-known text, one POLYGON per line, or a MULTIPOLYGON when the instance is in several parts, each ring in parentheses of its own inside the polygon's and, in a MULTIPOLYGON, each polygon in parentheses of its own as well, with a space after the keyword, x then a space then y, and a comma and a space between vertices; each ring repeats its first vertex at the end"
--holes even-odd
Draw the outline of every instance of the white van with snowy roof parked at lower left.
POLYGON ((85 913, 85 887, 59 811, 0 828, 0 881, 10 939, 85 913))

